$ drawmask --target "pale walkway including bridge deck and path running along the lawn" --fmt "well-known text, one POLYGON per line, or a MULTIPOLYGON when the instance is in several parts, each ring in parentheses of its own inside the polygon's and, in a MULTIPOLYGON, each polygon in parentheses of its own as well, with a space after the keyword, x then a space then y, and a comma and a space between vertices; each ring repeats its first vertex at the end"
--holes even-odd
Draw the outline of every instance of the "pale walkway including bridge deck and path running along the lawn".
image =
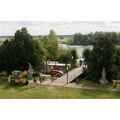
MULTIPOLYGON (((112 88, 98 88, 98 87, 92 87, 92 86, 81 86, 81 85, 77 85, 75 83, 70 83, 72 80, 74 80, 76 77, 78 77, 81 73, 82 73, 82 67, 78 67, 78 68, 75 68, 68 72, 68 83, 67 83, 67 74, 64 74, 63 76, 61 76, 60 78, 57 78, 53 82, 52 82, 52 80, 46 80, 46 81, 43 81, 41 84, 80 88, 80 89, 87 89, 87 90, 120 92, 120 90, 112 89, 112 88)), ((31 81, 31 80, 29 82, 33 83, 33 81, 31 81)), ((40 84, 39 80, 37 81, 37 84, 40 84)))

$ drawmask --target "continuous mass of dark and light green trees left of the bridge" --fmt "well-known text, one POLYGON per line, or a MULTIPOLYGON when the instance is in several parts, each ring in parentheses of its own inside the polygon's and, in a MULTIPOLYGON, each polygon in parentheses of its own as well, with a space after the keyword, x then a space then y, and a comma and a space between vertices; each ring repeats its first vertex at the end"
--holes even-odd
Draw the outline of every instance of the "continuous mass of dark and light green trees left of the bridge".
POLYGON ((28 70, 29 63, 34 70, 41 71, 48 60, 65 64, 72 64, 74 61, 74 66, 76 56, 75 49, 60 50, 54 30, 50 30, 48 35, 33 38, 26 28, 22 28, 0 45, 0 71, 10 73, 13 70, 28 70), (66 59, 62 57, 63 54, 66 59))

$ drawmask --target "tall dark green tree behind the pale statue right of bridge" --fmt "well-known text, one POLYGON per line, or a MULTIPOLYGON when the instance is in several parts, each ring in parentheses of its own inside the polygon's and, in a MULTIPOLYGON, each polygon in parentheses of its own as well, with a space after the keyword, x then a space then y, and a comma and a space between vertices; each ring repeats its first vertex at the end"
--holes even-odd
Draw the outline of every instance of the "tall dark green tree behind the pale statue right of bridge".
POLYGON ((112 79, 112 65, 114 60, 114 45, 108 37, 100 37, 93 44, 93 51, 88 62, 89 78, 99 82, 102 69, 105 68, 106 78, 112 79))

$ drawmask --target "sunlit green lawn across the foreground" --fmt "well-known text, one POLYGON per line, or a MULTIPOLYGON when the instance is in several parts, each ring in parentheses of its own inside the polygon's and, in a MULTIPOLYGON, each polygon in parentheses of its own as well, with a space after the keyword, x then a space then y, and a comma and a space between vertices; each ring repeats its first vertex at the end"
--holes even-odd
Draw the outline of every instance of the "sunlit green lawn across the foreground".
POLYGON ((1 99, 119 99, 119 92, 103 92, 78 88, 29 84, 10 86, 6 80, 0 81, 1 99))

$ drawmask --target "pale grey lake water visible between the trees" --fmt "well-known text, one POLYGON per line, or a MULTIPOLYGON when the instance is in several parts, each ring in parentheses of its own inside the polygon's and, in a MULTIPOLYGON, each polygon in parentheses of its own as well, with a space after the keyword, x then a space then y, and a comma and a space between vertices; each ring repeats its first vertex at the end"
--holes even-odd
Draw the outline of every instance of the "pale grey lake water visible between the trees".
POLYGON ((88 46, 84 46, 84 45, 80 45, 80 46, 67 46, 66 44, 59 44, 59 47, 61 49, 68 49, 68 48, 75 48, 78 52, 79 57, 82 57, 82 52, 85 48, 93 48, 92 45, 88 45, 88 46))

